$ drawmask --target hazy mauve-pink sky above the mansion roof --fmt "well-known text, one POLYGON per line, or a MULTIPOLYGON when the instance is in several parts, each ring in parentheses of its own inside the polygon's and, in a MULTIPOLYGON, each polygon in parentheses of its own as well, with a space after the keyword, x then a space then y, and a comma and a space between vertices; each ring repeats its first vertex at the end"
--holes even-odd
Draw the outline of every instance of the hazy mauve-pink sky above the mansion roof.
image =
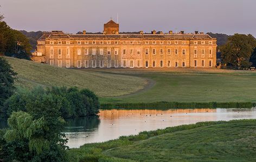
POLYGON ((1 0, 11 28, 27 31, 103 31, 110 17, 120 31, 169 30, 251 33, 255 0, 1 0))

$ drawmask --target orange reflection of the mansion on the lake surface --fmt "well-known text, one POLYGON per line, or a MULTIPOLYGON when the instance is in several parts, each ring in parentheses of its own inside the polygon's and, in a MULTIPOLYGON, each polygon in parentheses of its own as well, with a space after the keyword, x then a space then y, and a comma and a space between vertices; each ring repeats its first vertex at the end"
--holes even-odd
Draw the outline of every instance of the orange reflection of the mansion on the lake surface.
POLYGON ((133 115, 150 116, 167 113, 196 113, 196 112, 216 112, 216 109, 174 109, 174 110, 100 110, 100 119, 118 119, 121 117, 131 117, 133 115))

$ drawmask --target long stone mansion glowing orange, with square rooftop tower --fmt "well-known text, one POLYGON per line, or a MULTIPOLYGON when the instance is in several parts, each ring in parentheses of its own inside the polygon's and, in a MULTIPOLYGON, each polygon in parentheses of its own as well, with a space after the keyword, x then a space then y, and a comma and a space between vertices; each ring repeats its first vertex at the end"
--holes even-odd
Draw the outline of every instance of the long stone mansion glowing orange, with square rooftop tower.
POLYGON ((213 68, 216 46, 216 38, 198 31, 120 34, 111 20, 100 34, 46 32, 32 58, 65 68, 213 68))

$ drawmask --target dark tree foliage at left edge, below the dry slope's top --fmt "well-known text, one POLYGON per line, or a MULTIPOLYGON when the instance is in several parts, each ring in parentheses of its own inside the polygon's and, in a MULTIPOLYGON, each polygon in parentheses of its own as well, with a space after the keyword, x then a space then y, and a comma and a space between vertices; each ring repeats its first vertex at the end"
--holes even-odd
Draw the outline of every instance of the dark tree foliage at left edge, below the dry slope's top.
POLYGON ((0 110, 15 89, 15 76, 16 73, 12 70, 11 65, 3 57, 0 57, 0 110))

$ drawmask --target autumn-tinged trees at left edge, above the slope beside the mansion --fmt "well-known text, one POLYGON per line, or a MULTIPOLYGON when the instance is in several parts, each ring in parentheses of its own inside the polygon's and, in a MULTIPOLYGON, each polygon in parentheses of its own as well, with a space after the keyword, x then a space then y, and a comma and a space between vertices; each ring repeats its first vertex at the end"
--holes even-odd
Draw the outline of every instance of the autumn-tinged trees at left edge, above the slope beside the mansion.
POLYGON ((20 32, 11 29, 4 21, 0 21, 0 54, 30 59, 31 46, 28 39, 20 32))

